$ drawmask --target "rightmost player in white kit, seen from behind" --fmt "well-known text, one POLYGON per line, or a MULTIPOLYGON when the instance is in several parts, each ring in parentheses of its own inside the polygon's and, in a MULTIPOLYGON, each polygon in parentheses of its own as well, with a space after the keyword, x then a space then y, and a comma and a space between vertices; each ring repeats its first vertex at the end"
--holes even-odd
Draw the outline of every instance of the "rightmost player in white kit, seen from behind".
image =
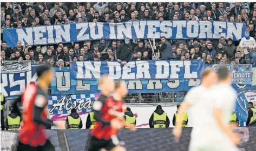
MULTIPOLYGON (((205 146, 211 150, 218 151, 237 151, 236 146, 241 138, 240 135, 232 132, 235 125, 229 124, 229 118, 235 108, 236 92, 231 86, 231 78, 226 66, 218 68, 219 84, 213 86, 209 90, 212 98, 207 99, 208 104, 211 104, 209 111, 213 111, 213 127, 209 131, 211 141, 205 146)), ((210 130, 210 129, 209 129, 210 130)))

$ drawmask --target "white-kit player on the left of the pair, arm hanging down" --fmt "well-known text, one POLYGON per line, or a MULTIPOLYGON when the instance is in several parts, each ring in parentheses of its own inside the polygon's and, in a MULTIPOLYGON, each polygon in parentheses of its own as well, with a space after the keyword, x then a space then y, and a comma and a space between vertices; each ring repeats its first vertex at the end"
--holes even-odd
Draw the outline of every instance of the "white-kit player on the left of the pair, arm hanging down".
MULTIPOLYGON (((191 134, 191 147, 192 146, 200 146, 197 143, 204 141, 201 139, 201 135, 205 132, 201 131, 206 129, 203 125, 203 120, 209 120, 212 117, 211 113, 207 112, 205 108, 205 96, 208 95, 207 90, 216 84, 217 75, 215 72, 212 71, 211 68, 207 68, 201 75, 202 83, 200 86, 193 87, 187 94, 184 101, 181 104, 181 107, 178 111, 178 119, 175 124, 175 128, 173 129, 173 135, 175 136, 176 140, 180 138, 182 127, 181 127, 181 117, 184 112, 188 109, 191 109, 191 121, 193 123, 193 130, 191 134), (211 115, 210 115, 211 114, 211 115)), ((213 119, 213 118, 211 118, 213 119)), ((193 147, 196 148, 196 147, 193 147)))

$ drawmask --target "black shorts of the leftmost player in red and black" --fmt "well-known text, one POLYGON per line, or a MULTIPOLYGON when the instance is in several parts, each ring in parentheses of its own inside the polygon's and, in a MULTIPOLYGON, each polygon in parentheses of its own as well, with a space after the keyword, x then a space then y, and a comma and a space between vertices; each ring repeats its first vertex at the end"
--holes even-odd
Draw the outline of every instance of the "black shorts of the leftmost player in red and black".
POLYGON ((43 146, 37 146, 37 147, 32 147, 30 145, 24 144, 21 141, 18 142, 18 148, 17 151, 55 151, 54 145, 47 140, 43 146))

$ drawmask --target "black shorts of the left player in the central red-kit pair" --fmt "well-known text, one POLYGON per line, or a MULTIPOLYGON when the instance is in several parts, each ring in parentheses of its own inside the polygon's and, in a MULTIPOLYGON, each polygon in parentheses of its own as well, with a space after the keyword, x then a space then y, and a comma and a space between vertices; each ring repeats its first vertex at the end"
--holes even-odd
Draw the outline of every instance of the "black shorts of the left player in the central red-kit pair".
POLYGON ((99 151, 102 148, 111 150, 116 146, 124 146, 118 136, 114 136, 109 140, 97 139, 95 136, 91 136, 87 151, 99 151))

